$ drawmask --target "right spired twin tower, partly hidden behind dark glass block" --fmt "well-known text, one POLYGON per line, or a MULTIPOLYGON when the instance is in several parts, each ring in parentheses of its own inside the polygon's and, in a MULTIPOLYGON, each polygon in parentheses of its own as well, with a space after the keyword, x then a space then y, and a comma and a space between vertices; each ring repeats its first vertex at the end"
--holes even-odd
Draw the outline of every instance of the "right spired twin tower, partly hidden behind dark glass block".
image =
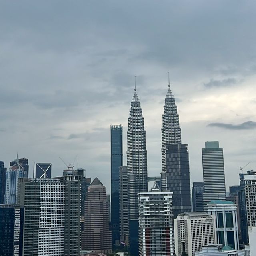
POLYGON ((162 116, 163 128, 162 128, 162 172, 166 172, 166 158, 165 151, 166 145, 181 143, 181 129, 179 122, 179 115, 177 112, 177 106, 175 104, 175 98, 171 91, 170 75, 168 72, 168 92, 165 98, 164 114, 162 116))

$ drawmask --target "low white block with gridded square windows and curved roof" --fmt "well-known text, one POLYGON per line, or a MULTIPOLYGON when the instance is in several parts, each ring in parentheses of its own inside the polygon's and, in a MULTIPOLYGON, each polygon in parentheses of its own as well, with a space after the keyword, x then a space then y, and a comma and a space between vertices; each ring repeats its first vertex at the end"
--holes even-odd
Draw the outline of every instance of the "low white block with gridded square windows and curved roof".
POLYGON ((175 254, 194 256, 203 246, 216 243, 215 217, 206 212, 185 212, 174 219, 175 254))

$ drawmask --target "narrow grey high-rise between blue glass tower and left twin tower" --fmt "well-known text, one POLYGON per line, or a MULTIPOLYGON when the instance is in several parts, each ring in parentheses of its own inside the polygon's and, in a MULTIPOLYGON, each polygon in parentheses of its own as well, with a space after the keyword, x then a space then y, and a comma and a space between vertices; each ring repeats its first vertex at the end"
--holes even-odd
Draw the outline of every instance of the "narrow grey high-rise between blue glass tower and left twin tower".
POLYGON ((120 244, 129 243, 129 201, 128 201, 128 174, 127 167, 119 168, 119 233, 120 244))

